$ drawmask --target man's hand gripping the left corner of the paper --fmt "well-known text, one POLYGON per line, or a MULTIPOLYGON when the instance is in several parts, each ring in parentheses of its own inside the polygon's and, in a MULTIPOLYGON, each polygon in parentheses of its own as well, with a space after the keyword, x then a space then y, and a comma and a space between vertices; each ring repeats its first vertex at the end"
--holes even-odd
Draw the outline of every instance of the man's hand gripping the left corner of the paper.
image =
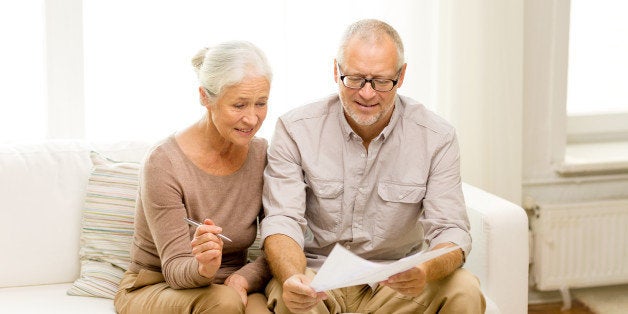
POLYGON ((291 312, 300 313, 310 310, 321 300, 327 299, 327 294, 317 293, 310 287, 310 279, 307 276, 296 274, 284 281, 282 297, 291 312))

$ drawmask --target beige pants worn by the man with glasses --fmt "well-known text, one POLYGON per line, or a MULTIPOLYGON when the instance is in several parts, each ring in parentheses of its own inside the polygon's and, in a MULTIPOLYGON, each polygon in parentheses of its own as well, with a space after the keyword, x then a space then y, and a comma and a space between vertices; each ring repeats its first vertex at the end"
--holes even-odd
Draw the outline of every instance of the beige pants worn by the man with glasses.
MULTIPOLYGON (((314 271, 307 269, 308 277, 314 271)), ((290 313, 281 298, 282 286, 275 279, 266 286, 269 308, 275 313, 290 313)), ((418 297, 408 297, 393 289, 368 285, 327 291, 328 298, 319 302, 308 313, 337 314, 355 313, 484 313, 486 301, 480 291, 477 278, 465 269, 458 269, 450 276, 430 283, 418 297)))

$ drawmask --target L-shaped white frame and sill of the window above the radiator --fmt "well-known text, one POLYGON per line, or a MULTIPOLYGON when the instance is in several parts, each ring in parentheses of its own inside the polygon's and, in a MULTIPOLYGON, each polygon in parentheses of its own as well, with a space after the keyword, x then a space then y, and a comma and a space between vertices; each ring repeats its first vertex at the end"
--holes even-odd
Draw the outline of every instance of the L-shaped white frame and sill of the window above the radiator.
POLYGON ((552 1, 549 31, 551 165, 560 177, 595 176, 628 172, 628 156, 615 158, 628 147, 628 114, 569 115, 570 1, 552 1), (612 144, 609 146, 609 144, 612 144), (587 145, 583 149, 583 145, 587 145), (609 147, 611 147, 609 149, 609 147), (613 148, 614 147, 614 148, 613 148), (603 148, 603 149, 602 149, 603 148), (598 155, 582 154, 585 151, 598 155))

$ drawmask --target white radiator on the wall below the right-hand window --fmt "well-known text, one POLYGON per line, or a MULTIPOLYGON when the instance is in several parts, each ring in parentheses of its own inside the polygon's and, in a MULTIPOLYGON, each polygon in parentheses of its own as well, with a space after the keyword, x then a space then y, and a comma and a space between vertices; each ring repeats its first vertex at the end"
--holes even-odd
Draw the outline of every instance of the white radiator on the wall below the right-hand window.
POLYGON ((531 227, 539 290, 628 283, 628 200, 539 205, 531 227))

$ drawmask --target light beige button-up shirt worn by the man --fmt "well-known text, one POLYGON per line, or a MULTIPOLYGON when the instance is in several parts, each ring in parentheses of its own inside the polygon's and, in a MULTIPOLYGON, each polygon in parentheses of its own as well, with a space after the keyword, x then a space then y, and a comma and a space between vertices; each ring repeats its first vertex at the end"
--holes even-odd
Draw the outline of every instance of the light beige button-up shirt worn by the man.
POLYGON ((455 131, 403 96, 368 151, 337 95, 280 117, 262 201, 262 241, 291 237, 314 269, 336 243, 368 260, 396 260, 424 244, 453 242, 465 256, 471 248, 455 131))

